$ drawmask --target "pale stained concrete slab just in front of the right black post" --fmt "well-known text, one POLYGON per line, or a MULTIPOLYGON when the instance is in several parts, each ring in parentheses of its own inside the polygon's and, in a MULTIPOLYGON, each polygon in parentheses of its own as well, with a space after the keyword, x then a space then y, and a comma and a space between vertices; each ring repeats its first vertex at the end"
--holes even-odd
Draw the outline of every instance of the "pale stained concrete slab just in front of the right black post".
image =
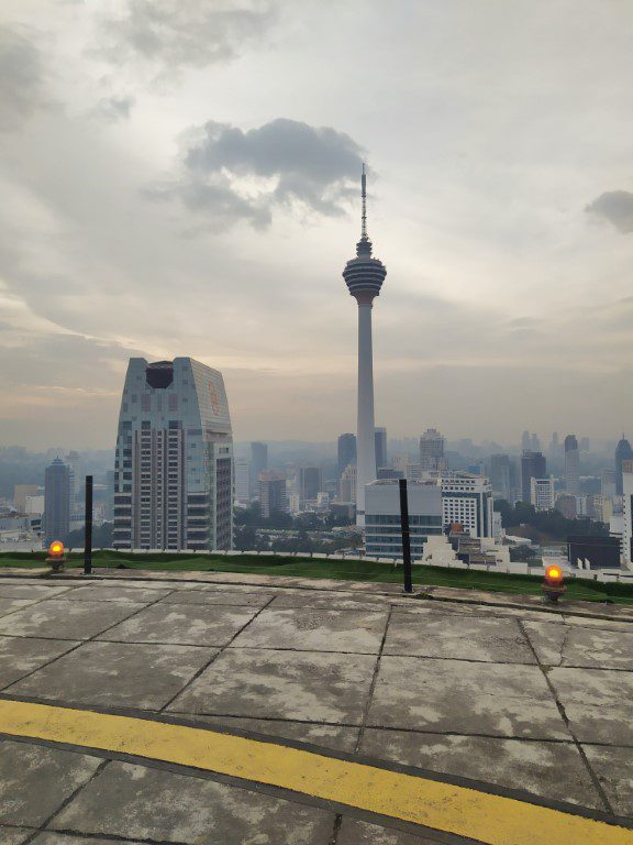
POLYGON ((514 619, 396 611, 385 640, 386 655, 419 655, 486 662, 535 663, 514 619))

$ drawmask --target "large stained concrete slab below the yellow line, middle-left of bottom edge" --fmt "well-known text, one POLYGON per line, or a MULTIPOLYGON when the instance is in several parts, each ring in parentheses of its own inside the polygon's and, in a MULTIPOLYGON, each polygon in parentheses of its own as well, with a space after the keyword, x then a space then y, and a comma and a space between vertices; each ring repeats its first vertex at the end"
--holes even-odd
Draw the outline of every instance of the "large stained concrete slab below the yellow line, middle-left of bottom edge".
POLYGON ((255 791, 110 762, 51 823, 160 843, 325 845, 334 814, 255 791))

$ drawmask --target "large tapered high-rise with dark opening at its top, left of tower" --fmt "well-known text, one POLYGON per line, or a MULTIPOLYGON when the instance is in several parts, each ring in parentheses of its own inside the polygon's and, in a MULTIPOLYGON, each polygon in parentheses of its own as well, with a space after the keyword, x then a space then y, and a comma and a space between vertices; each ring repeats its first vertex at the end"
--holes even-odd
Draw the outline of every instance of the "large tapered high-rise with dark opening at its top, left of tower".
POLYGON ((130 359, 114 469, 115 548, 232 548, 233 438, 222 374, 190 358, 130 359))

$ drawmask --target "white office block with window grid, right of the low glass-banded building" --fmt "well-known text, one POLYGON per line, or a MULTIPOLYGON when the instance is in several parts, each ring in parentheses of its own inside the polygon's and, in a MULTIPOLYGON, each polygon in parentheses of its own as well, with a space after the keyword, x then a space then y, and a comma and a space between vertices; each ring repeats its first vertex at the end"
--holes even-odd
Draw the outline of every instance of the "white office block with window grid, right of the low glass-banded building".
POLYGON ((470 537, 493 536, 492 489, 488 479, 469 472, 446 472, 440 485, 444 526, 457 523, 470 537))

